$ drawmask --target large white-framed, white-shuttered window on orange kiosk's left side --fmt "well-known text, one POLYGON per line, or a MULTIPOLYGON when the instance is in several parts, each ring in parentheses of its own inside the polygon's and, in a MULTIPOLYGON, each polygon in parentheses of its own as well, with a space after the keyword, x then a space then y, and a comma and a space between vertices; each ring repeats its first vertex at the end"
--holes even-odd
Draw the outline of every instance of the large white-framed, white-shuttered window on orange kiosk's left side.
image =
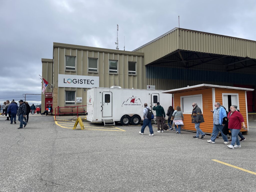
POLYGON ((202 94, 188 95, 180 97, 180 107, 184 114, 191 114, 193 110, 192 103, 197 103, 203 113, 202 94))

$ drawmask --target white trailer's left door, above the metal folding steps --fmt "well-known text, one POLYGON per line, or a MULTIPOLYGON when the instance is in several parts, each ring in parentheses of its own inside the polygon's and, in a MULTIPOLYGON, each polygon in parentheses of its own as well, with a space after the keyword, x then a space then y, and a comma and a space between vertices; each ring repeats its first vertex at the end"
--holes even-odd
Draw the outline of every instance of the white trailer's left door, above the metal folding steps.
POLYGON ((102 92, 102 117, 112 117, 112 92, 102 92))

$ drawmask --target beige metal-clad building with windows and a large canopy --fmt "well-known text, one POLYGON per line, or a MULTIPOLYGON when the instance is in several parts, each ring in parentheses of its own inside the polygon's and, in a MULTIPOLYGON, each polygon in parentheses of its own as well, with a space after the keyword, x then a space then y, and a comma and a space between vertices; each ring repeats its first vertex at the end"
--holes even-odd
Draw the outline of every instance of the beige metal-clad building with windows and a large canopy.
MULTIPOLYGON (((170 90, 208 83, 255 90, 256 41, 174 28, 134 51, 54 43, 53 59, 42 59, 53 106, 86 105, 87 88, 59 87, 59 74, 98 77, 99 87, 170 90), (67 97, 82 97, 82 103, 67 97)), ((256 111, 255 91, 247 101, 248 112, 256 111)))

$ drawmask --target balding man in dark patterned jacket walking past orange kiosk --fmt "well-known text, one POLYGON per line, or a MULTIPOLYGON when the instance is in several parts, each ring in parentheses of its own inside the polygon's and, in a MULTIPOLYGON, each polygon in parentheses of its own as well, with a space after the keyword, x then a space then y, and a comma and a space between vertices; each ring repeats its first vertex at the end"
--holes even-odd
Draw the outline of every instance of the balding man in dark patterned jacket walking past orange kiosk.
POLYGON ((204 116, 202 114, 201 109, 199 108, 199 106, 197 105, 197 103, 192 103, 193 106, 193 111, 192 111, 192 123, 195 123, 195 129, 196 129, 196 136, 194 136, 193 138, 195 139, 199 139, 199 135, 201 135, 201 139, 203 139, 206 134, 204 132, 202 132, 202 130, 200 129, 200 123, 204 123, 204 116))

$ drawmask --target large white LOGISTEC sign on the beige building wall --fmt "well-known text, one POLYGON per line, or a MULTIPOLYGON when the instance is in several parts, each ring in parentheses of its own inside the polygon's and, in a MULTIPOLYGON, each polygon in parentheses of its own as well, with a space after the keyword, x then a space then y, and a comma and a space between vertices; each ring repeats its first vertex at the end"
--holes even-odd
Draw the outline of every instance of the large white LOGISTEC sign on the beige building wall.
POLYGON ((99 77, 82 75, 58 75, 59 87, 93 88, 99 87, 99 77))

